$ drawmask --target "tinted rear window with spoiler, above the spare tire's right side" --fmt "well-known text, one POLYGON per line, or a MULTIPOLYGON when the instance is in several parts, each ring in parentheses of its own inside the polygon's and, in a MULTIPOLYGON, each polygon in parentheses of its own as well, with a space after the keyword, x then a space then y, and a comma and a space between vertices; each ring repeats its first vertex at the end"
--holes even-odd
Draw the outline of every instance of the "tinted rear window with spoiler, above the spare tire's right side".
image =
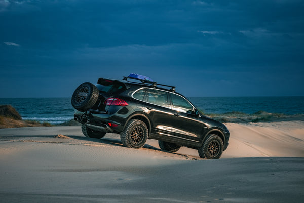
POLYGON ((96 85, 100 92, 115 94, 126 90, 124 83, 121 83, 116 80, 98 80, 98 85, 96 85))

